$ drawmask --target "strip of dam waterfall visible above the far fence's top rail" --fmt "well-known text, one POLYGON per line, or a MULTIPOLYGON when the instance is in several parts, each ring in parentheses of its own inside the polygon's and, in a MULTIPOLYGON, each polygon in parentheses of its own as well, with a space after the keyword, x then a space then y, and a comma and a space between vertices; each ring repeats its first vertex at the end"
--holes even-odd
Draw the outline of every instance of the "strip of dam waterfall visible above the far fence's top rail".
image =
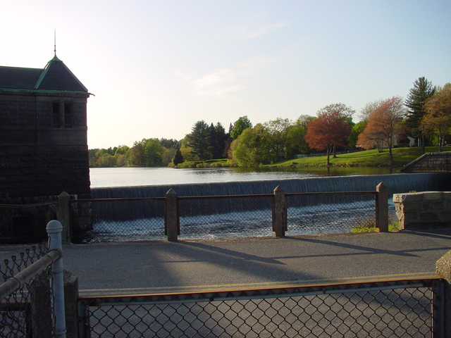
POLYGON ((358 175, 313 177, 287 180, 247 182, 215 182, 196 184, 171 184, 142 187, 92 188, 93 199, 164 197, 169 189, 177 196, 215 196, 242 194, 273 194, 280 186, 286 193, 294 192, 359 192, 374 191, 383 182, 389 196, 403 192, 450 191, 449 173, 418 173, 390 175, 358 175))

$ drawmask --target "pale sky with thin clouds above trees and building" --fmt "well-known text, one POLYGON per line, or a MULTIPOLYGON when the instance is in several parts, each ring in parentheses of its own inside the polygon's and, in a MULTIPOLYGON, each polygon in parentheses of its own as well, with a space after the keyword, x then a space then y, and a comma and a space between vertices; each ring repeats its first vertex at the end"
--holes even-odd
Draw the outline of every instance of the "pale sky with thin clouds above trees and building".
POLYGON ((451 82, 449 0, 0 0, 0 65, 56 55, 93 95, 88 147, 194 123, 296 120, 451 82))

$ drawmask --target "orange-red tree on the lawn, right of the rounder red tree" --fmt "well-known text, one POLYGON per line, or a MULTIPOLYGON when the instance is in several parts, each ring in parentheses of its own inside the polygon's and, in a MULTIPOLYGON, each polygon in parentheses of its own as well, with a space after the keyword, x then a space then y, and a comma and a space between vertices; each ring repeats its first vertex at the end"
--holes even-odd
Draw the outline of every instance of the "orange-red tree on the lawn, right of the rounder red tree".
POLYGON ((393 144, 395 138, 402 132, 401 122, 407 113, 404 101, 400 96, 393 96, 383 101, 368 117, 368 124, 357 143, 364 149, 377 148, 382 151, 388 148, 390 166, 393 165, 393 144))

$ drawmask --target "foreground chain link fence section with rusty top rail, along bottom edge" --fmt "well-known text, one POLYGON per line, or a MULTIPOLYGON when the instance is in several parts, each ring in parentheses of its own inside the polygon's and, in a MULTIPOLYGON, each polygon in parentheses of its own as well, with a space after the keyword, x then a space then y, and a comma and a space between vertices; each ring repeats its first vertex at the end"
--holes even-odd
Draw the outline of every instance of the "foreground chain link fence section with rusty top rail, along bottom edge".
POLYGON ((85 297, 84 337, 431 337, 442 280, 85 297), (433 311, 434 308, 434 311, 433 311))

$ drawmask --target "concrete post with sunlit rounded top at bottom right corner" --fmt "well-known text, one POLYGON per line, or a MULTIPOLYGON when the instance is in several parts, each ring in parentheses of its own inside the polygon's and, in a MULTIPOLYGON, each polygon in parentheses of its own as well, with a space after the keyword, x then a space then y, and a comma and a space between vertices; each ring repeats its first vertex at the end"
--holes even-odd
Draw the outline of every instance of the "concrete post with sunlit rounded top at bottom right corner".
POLYGON ((441 313, 440 311, 437 313, 438 316, 434 313, 433 310, 433 315, 435 322, 438 322, 437 325, 441 324, 444 326, 440 327, 440 331, 443 330, 444 333, 443 337, 451 337, 451 251, 445 253, 445 255, 435 263, 435 273, 437 274, 437 277, 443 278, 445 280, 445 289, 443 290, 443 309, 441 313))

